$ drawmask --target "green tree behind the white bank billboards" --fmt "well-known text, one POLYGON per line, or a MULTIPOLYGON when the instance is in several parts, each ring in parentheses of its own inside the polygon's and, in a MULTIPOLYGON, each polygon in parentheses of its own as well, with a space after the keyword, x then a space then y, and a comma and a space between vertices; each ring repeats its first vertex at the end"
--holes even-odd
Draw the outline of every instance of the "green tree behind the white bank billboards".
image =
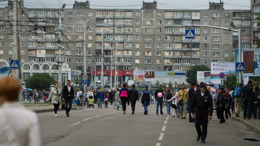
POLYGON ((186 82, 192 83, 197 81, 197 71, 210 71, 210 68, 206 65, 194 65, 186 72, 186 82))

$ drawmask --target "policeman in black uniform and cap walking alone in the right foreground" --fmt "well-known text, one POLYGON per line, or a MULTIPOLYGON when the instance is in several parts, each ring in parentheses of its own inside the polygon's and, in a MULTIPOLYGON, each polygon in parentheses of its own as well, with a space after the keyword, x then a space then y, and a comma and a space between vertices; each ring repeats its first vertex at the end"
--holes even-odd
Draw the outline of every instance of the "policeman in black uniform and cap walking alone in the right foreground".
POLYGON ((195 127, 198 133, 196 141, 199 141, 201 137, 202 143, 205 143, 208 119, 212 119, 213 113, 212 98, 211 95, 206 91, 207 85, 200 84, 200 92, 195 93, 191 106, 192 117, 195 118, 195 127), (202 129, 200 129, 200 125, 202 125, 202 129))

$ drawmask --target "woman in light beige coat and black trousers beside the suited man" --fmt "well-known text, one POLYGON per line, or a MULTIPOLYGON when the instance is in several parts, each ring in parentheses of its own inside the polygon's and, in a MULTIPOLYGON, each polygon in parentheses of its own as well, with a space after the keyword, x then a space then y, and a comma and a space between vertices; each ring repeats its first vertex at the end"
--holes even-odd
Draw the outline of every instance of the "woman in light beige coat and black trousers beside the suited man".
POLYGON ((58 83, 55 83, 54 89, 51 89, 50 96, 46 100, 46 102, 48 102, 51 98, 51 103, 54 106, 54 113, 56 117, 57 117, 57 111, 60 108, 60 103, 61 103, 61 99, 60 99, 61 94, 60 94, 60 89, 58 87, 59 87, 58 83))

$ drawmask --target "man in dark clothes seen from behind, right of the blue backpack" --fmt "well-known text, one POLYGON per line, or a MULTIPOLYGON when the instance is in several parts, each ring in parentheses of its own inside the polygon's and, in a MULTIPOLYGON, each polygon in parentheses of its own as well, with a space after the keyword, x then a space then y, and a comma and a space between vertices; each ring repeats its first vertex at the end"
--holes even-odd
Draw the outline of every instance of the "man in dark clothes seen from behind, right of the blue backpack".
POLYGON ((253 99, 253 88, 252 81, 249 80, 247 84, 242 88, 242 100, 244 100, 244 119, 247 117, 250 120, 252 110, 252 99, 253 99))

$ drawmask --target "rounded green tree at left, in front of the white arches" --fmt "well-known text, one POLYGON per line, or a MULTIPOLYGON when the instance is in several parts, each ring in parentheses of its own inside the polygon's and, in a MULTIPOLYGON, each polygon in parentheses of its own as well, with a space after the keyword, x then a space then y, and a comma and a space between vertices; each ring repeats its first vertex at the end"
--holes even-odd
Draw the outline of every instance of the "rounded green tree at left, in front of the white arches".
POLYGON ((51 84, 55 83, 53 76, 48 73, 35 73, 25 82, 26 87, 36 90, 49 89, 51 84))

